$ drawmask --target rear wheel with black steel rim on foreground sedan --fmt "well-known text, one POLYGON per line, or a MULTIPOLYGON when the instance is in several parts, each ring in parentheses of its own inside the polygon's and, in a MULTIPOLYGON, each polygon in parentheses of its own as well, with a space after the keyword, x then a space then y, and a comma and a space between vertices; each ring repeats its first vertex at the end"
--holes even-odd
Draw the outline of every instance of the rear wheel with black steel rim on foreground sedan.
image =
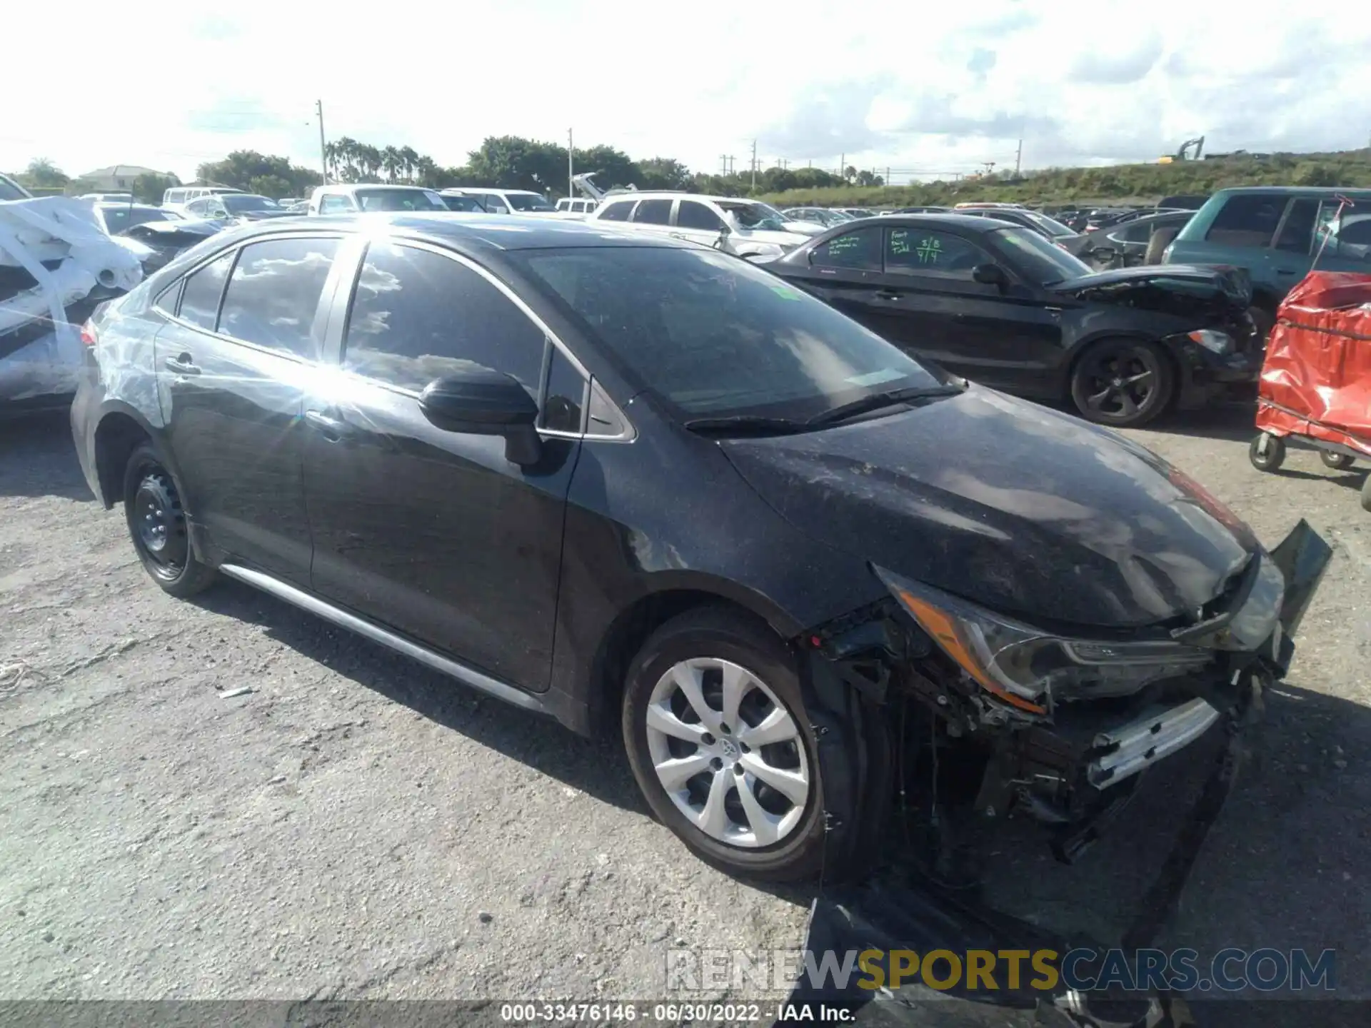
POLYGON ((186 598, 214 583, 214 569, 191 547, 175 480, 151 443, 134 447, 123 469, 123 515, 144 570, 163 592, 186 598))

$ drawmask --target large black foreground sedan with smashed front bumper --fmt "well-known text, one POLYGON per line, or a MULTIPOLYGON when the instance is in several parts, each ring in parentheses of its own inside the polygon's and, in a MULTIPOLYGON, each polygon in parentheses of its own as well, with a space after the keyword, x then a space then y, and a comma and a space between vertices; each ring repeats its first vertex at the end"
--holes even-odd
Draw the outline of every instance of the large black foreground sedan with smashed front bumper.
POLYGON ((158 587, 234 578, 613 732, 750 876, 877 854, 908 740, 1089 832, 1285 670, 1320 569, 1307 526, 1267 554, 1142 447, 662 236, 263 223, 84 340, 81 467, 158 587))

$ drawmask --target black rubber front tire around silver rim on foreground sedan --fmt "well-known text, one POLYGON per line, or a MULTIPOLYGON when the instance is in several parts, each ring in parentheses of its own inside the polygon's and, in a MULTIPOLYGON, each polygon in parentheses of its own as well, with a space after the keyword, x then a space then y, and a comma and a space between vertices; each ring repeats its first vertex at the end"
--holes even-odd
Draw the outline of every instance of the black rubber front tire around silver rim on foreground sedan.
MULTIPOLYGON (((710 702, 712 709, 717 711, 718 709, 713 707, 710 699, 714 685, 707 672, 701 676, 701 687, 702 695, 710 702)), ((761 696, 760 699, 769 703, 769 698, 766 696, 761 696)), ((754 707, 754 710, 757 709, 769 713, 771 706, 754 707)), ((681 714, 684 717, 681 720, 687 720, 691 713, 683 709, 681 714)), ((755 726, 755 721, 749 722, 747 715, 742 711, 739 720, 743 722, 742 728, 744 729, 755 726)), ((699 724, 703 718, 691 724, 699 724)), ((720 737, 714 737, 706 732, 705 739, 713 740, 709 744, 710 748, 706 748, 703 744, 681 742, 679 746, 684 748, 681 752, 677 752, 673 744, 669 755, 672 758, 706 757, 713 748, 718 748, 728 742, 735 744, 742 743, 739 736, 743 732, 739 728, 738 725, 731 726, 731 737, 728 739, 723 735, 724 728, 718 728, 720 737)), ((820 873, 824 861, 824 803, 813 728, 805 711, 795 658, 764 622, 747 615, 739 615, 735 610, 699 607, 672 618, 657 629, 629 665, 628 680, 624 688, 622 732, 629 766, 633 769, 633 777, 638 779, 638 785, 643 791, 653 813, 701 859, 729 874, 765 881, 799 881, 820 873), (712 837, 702 828, 687 820, 681 809, 677 807, 676 800, 668 795, 661 779, 658 779, 653 762, 653 743, 648 739, 648 707, 653 706, 654 689, 659 683, 666 681, 668 672, 683 661, 691 659, 718 659, 744 668, 753 678, 762 683, 780 700, 798 729, 797 740, 784 746, 794 747, 792 757, 795 761, 801 761, 797 765, 798 769, 808 772, 809 790, 805 807, 797 816, 788 832, 776 843, 744 847, 712 837)), ((755 752, 747 750, 746 746, 742 748, 747 755, 754 758, 762 755, 761 748, 755 752)), ((771 750, 772 747, 765 748, 771 750)), ((786 754, 783 752, 781 759, 784 757, 786 754)), ((727 773, 729 769, 738 770, 744 759, 746 757, 736 757, 738 763, 732 768, 725 766, 723 773, 727 773)), ((771 763, 773 758, 768 755, 764 759, 771 763)), ((684 783, 680 792, 695 796, 702 790, 707 791, 707 783, 701 783, 699 779, 713 781, 718 773, 717 770, 702 769, 684 783)), ((739 774, 742 776, 742 772, 739 774)), ((749 831, 751 831, 750 822, 742 810, 742 796, 739 792, 739 788, 747 788, 747 777, 739 777, 738 783, 732 787, 727 784, 728 779, 724 781, 725 785, 721 795, 727 796, 724 806, 728 811, 729 828, 740 829, 743 825, 749 825, 749 831)), ((790 803, 779 792, 768 795, 762 790, 764 783, 758 784, 758 779, 753 777, 751 781, 753 798, 762 799, 769 813, 777 813, 779 809, 772 809, 776 802, 783 805, 790 803)), ((775 790, 771 792, 775 792, 775 790)), ((703 807, 703 803, 701 806, 703 807)))

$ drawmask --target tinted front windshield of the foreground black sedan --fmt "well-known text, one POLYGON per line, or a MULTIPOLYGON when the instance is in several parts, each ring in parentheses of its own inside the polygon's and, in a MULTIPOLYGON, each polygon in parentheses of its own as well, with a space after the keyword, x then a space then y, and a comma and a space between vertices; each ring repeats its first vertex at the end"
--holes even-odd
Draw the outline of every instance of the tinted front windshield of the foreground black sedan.
POLYGON ((942 377, 808 293, 707 249, 517 252, 638 388, 677 417, 803 419, 942 377))

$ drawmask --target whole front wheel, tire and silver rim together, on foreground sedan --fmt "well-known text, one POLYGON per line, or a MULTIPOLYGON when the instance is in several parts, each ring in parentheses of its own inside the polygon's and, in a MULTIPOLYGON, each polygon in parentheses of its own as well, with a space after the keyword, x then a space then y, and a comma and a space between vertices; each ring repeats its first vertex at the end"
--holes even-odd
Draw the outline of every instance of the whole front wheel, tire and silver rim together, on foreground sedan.
POLYGON ((658 629, 629 670, 624 742, 653 810, 698 855, 758 879, 817 873, 812 729, 765 625, 706 609, 658 629))

